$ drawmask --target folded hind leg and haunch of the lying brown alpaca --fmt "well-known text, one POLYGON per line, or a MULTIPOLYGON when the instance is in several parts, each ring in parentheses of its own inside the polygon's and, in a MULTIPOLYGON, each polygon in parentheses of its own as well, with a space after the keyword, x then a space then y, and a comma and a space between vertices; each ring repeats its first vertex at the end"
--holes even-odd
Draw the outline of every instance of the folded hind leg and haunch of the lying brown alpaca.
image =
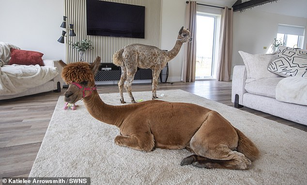
POLYGON ((190 140, 190 148, 196 155, 184 158, 181 165, 237 170, 251 167, 251 161, 244 154, 232 151, 237 147, 238 136, 235 130, 232 131, 231 125, 224 124, 223 120, 216 112, 208 115, 190 140), (223 133, 219 133, 221 126, 224 127, 223 133))

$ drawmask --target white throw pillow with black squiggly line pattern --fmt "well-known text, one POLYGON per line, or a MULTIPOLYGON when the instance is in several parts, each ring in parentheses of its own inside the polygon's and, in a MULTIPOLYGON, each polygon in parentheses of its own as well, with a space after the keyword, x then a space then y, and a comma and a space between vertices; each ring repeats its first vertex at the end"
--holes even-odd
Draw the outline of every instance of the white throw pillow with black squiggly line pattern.
POLYGON ((278 46, 278 56, 270 62, 268 70, 282 77, 307 77, 307 52, 278 46))

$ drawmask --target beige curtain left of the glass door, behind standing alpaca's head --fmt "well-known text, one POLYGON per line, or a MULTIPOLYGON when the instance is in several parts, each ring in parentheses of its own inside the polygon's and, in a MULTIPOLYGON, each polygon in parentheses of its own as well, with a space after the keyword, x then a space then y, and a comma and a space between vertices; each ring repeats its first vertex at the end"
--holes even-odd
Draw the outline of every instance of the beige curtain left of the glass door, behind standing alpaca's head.
POLYGON ((191 32, 193 40, 184 44, 184 63, 181 80, 194 82, 196 66, 196 1, 189 1, 186 5, 185 17, 187 28, 191 32))

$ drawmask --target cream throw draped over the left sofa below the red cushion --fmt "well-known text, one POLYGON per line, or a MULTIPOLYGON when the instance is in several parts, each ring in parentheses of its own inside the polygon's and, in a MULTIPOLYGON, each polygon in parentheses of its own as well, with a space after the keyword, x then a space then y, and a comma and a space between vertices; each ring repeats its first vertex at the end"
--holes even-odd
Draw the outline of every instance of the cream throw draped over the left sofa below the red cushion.
POLYGON ((0 95, 22 93, 53 79, 56 67, 39 65, 4 65, 0 67, 0 95))

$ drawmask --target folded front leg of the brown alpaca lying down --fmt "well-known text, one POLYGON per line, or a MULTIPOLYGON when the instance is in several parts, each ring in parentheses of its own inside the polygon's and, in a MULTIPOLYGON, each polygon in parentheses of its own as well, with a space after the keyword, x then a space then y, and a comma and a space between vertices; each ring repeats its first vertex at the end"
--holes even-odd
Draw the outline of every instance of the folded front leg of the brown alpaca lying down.
POLYGON ((116 136, 115 143, 120 146, 127 146, 136 150, 150 152, 154 150, 153 134, 140 134, 134 136, 116 136))

